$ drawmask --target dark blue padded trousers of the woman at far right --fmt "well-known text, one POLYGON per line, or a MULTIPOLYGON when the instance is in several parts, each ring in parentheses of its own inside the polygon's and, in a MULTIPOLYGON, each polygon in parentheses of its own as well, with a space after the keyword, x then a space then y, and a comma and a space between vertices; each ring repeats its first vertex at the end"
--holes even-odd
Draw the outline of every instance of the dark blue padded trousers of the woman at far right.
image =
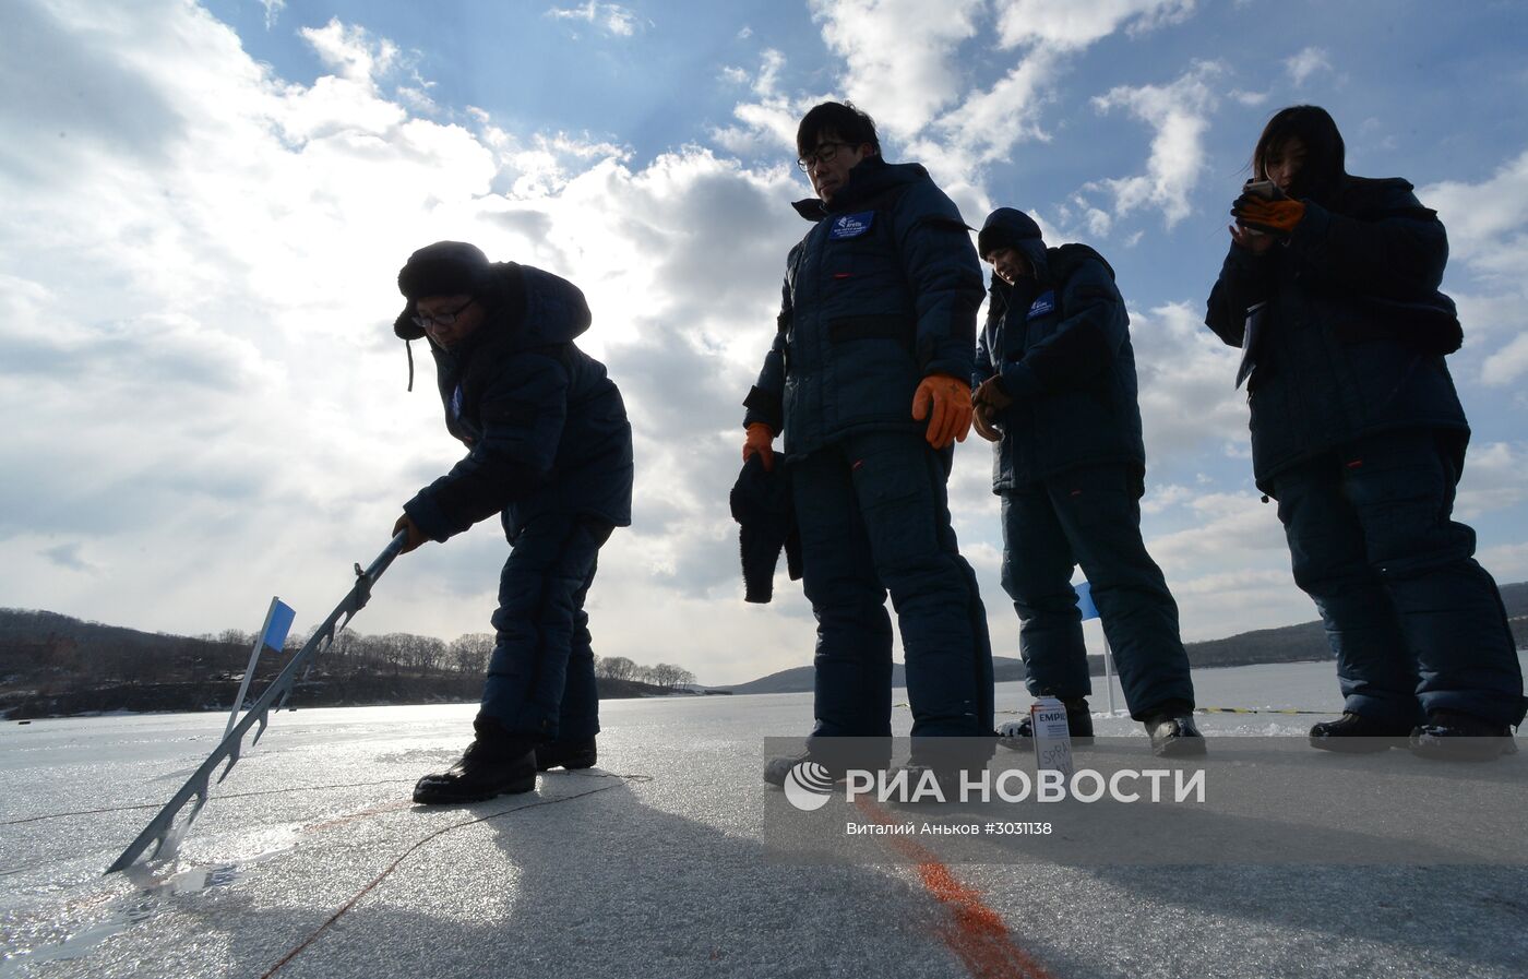
POLYGON ((1475 532, 1450 519, 1455 457, 1429 429, 1360 438, 1279 473, 1294 582, 1337 655, 1343 710, 1407 725, 1432 710, 1523 719, 1523 678, 1475 532))

